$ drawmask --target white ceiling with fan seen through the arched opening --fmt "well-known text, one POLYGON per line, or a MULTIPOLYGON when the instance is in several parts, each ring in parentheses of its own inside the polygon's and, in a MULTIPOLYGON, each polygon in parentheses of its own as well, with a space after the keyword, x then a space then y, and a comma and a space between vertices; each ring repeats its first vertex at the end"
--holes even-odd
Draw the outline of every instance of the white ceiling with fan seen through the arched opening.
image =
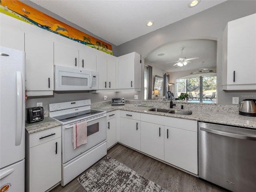
POLYGON ((176 71, 190 71, 196 72, 201 68, 212 69, 216 72, 216 59, 217 59, 217 41, 206 39, 192 39, 175 42, 172 44, 166 44, 153 52, 151 52, 145 58, 146 65, 156 66, 166 72, 176 71), (182 57, 198 59, 190 60, 186 66, 179 67, 173 66, 181 57, 180 48, 184 48, 182 51, 182 57), (164 54, 164 56, 158 56, 158 54, 164 54), (167 63, 172 62, 172 63, 167 63), (203 62, 203 63, 202 63, 203 62))

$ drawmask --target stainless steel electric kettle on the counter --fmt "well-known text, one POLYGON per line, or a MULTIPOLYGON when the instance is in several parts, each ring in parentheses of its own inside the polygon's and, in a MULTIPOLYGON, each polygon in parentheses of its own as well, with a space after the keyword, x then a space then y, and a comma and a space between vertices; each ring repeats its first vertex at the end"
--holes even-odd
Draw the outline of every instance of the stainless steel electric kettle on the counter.
POLYGON ((245 99, 239 102, 239 114, 245 116, 256 116, 256 99, 245 99))

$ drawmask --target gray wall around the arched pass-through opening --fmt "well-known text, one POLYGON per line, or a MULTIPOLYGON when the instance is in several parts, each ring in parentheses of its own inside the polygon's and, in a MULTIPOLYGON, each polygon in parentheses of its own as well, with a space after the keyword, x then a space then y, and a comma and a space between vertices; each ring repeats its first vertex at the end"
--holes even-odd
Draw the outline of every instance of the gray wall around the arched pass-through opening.
MULTIPOLYGON (((150 32, 144 36, 118 46, 118 56, 130 52, 138 52, 144 58, 156 48, 180 40, 204 38, 217 40, 217 88, 218 104, 232 104, 232 97, 256 97, 252 92, 225 92, 222 90, 222 34, 227 22, 256 13, 255 0, 228 0, 208 10, 170 24, 164 28, 150 32)), ((142 85, 144 80, 142 80, 142 85)), ((141 97, 143 91, 140 92, 141 97)))

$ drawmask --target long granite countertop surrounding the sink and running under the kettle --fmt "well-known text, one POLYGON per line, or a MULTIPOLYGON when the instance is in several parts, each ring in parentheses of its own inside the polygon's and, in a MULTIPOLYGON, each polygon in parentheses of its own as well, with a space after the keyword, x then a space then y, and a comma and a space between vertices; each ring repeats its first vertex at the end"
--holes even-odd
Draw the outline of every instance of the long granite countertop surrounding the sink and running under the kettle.
MULTIPOLYGON (((111 112, 113 110, 126 110, 126 111, 133 111, 133 112, 139 112, 139 113, 162 115, 162 116, 168 116, 168 117, 176 117, 176 118, 183 118, 183 119, 190 119, 190 120, 196 120, 196 121, 204 121, 204 122, 210 122, 210 123, 256 129, 256 117, 242 116, 242 115, 239 115, 238 112, 192 110, 191 115, 178 115, 178 114, 148 111, 150 108, 153 108, 153 106, 143 106, 143 105, 134 106, 134 104, 125 104, 122 106, 105 105, 105 106, 100 106, 94 109, 104 110, 106 112, 111 112)), ((180 110, 180 109, 174 108, 173 110, 180 110)), ((188 111, 188 110, 184 110, 184 111, 188 111)))

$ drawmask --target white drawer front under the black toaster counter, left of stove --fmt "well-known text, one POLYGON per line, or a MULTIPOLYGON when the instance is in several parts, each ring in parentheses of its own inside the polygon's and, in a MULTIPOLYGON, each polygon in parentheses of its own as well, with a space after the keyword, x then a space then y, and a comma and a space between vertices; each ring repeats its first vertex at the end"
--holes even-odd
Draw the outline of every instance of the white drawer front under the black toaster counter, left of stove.
POLYGON ((29 148, 61 137, 61 126, 46 129, 29 135, 29 148))

